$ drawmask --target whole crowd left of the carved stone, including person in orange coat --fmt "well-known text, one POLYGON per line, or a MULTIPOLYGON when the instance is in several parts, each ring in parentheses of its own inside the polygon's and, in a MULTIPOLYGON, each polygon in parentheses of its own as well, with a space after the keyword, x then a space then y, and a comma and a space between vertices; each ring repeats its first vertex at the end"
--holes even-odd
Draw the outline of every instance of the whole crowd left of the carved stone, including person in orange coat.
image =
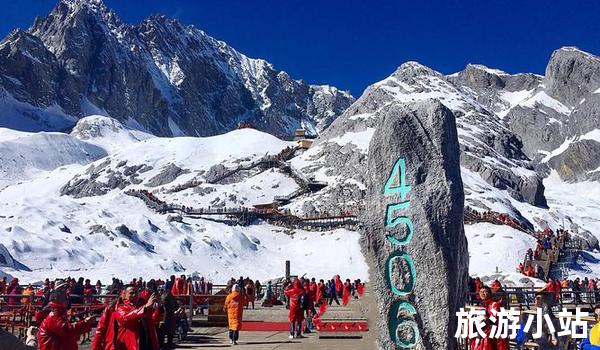
MULTIPOLYGON (((41 286, 22 286, 17 278, 7 281, 5 277, 0 280, 0 294, 4 295, 0 304, 32 313, 38 331, 27 343, 41 350, 77 349, 80 337, 92 329, 90 350, 159 350, 176 346, 179 322, 183 320, 187 326, 189 298, 212 295, 213 287, 202 277, 185 275, 164 281, 140 277, 127 283, 113 278, 109 285, 68 277, 46 279, 41 286)), ((232 278, 224 289, 230 341, 237 344, 243 310, 255 308, 257 300, 263 300, 265 307, 289 308, 290 337, 299 338, 317 326, 315 322, 327 305, 347 305, 363 293, 364 285, 360 280, 343 281, 340 276, 327 282, 286 279, 276 285, 240 277, 232 278)))

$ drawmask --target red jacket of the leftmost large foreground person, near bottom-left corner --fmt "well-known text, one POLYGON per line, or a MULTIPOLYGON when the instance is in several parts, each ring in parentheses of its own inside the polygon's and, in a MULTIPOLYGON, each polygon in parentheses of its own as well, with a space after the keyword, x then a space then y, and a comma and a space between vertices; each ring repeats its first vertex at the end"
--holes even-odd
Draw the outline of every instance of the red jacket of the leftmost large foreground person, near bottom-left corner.
POLYGON ((58 303, 50 303, 53 311, 44 319, 38 331, 40 350, 77 350, 77 340, 91 327, 85 321, 70 323, 67 309, 58 303))

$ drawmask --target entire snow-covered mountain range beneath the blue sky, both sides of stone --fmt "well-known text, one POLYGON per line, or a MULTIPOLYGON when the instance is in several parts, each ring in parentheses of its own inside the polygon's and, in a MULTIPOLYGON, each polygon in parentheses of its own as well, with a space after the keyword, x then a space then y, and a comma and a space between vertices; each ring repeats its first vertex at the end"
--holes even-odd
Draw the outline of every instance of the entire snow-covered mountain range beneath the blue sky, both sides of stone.
MULTIPOLYGON (((198 271, 223 282, 276 277, 292 260, 298 273, 366 278, 355 231, 230 226, 159 214, 130 194, 212 210, 277 199, 299 216, 358 213, 381 117, 426 99, 456 117, 467 205, 535 229, 565 226, 598 248, 599 72, 600 59, 570 47, 544 76, 477 64, 444 75, 407 62, 354 101, 177 21, 129 25, 97 0, 62 0, 0 43, 0 269, 26 280, 198 271), (255 129, 234 130, 240 122, 255 129), (272 135, 299 126, 319 134, 307 151, 272 135), (164 137, 173 135, 188 137, 164 137)), ((531 236, 488 224, 466 234, 472 273, 520 278, 531 236)))

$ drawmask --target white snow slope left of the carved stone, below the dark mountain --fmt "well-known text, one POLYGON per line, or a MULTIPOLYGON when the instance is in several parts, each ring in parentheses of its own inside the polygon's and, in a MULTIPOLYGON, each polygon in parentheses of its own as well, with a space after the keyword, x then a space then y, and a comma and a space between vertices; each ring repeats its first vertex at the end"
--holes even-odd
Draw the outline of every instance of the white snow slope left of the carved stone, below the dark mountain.
POLYGON ((64 275, 164 278, 197 271, 223 283, 239 275, 261 280, 280 276, 285 260, 291 260, 293 273, 367 278, 357 232, 317 233, 268 224, 232 227, 191 218, 178 222, 125 194, 128 189, 146 189, 170 203, 196 208, 269 203, 298 188, 280 170, 239 175, 226 183, 209 184, 206 177, 211 168, 250 164, 293 143, 253 129, 207 138, 143 139, 104 117, 81 120, 72 135, 0 135, 8 140, 4 142, 19 141, 12 150, 19 154, 29 150, 23 145, 31 139, 42 138, 44 145, 70 141, 63 141, 60 149, 33 150, 26 156, 43 154, 48 158, 45 168, 38 165, 35 174, 0 190, 0 229, 6 232, 0 235, 0 247, 25 265, 0 266, 4 273, 34 281, 64 275), (100 154, 79 162, 49 161, 55 152, 77 154, 82 147, 100 154), (81 186, 84 182, 87 187, 81 186), (183 184, 192 185, 174 191, 183 184), (71 192, 61 195, 69 186, 71 192), (326 246, 338 249, 325 251, 326 246))

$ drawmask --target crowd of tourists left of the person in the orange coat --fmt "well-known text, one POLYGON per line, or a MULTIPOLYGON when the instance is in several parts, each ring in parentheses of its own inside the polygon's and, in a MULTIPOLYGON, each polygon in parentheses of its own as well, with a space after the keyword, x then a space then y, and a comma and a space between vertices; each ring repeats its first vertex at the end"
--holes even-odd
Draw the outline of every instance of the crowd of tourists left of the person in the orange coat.
POLYGON ((184 303, 178 296, 212 293, 212 283, 185 275, 129 283, 113 278, 103 286, 89 279, 46 279, 41 286, 22 288, 17 278, 0 281, 0 294, 9 307, 31 309, 38 326, 39 349, 77 349, 81 335, 95 333, 91 350, 158 350, 175 346, 177 322, 185 320, 184 303), (106 296, 106 297, 104 297, 106 296), (99 320, 96 324, 96 317, 99 320), (71 323, 72 320, 77 322, 71 323))

